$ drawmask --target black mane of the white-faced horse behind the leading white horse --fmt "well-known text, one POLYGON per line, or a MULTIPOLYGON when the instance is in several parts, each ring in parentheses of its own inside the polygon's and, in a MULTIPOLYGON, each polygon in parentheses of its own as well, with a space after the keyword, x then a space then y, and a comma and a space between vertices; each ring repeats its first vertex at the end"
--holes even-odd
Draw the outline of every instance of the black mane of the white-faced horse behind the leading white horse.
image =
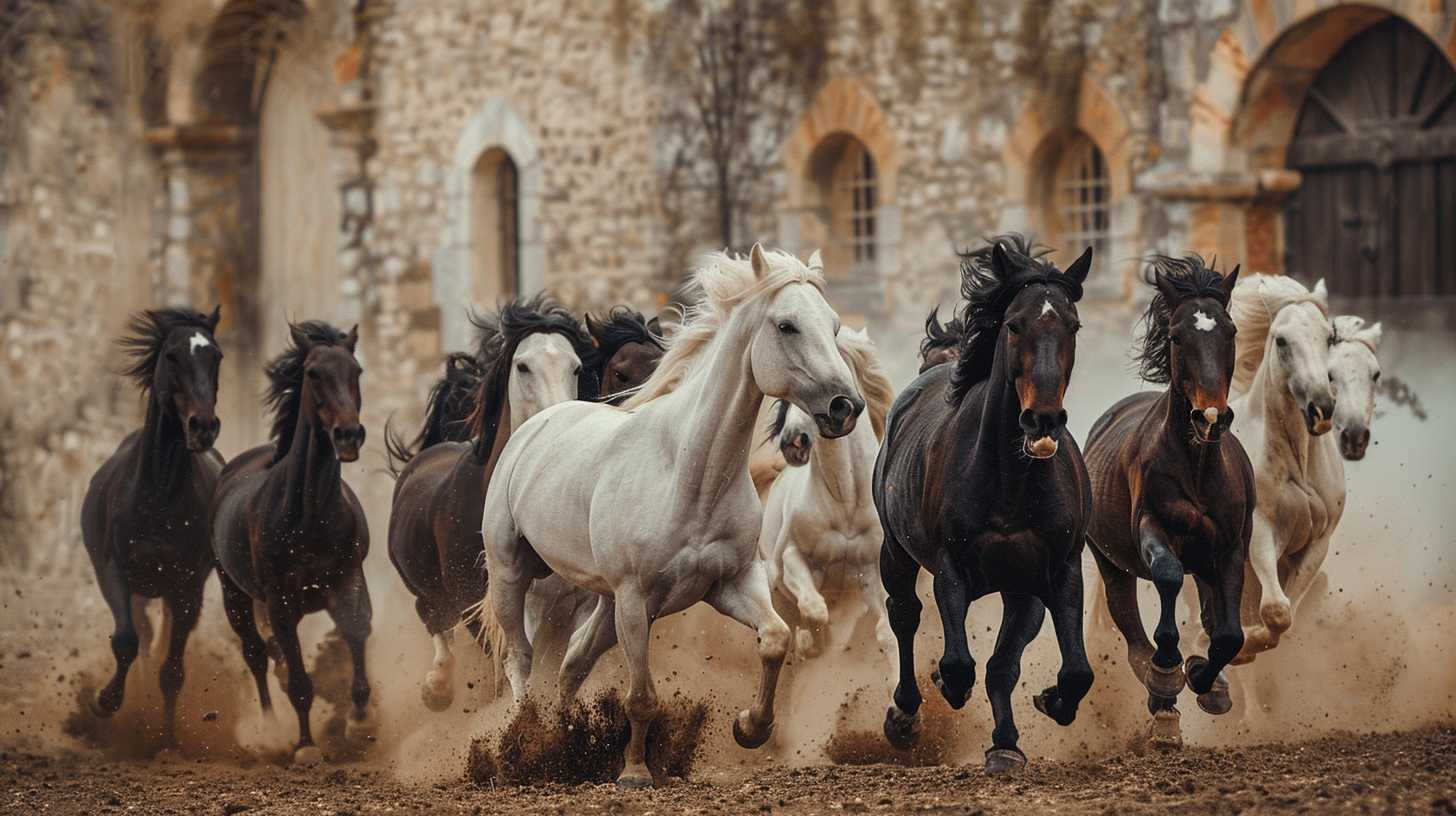
POLYGON ((508 399, 507 386, 515 348, 533 334, 559 334, 565 337, 581 360, 581 374, 577 379, 577 399, 597 398, 596 347, 581 322, 555 297, 539 293, 533 297, 515 299, 495 313, 470 313, 470 323, 478 332, 478 354, 483 372, 475 391, 475 407, 466 418, 470 437, 475 439, 472 453, 483 463, 499 433, 501 414, 508 399))

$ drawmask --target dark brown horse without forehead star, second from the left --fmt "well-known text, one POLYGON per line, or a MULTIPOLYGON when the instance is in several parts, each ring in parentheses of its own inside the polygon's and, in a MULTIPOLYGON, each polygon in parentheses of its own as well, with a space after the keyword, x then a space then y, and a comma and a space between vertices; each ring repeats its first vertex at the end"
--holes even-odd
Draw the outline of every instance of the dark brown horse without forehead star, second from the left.
POLYGON ((345 334, 309 321, 290 323, 288 332, 288 347, 264 369, 272 443, 240 453, 223 469, 213 510, 213 554, 227 622, 242 641, 265 713, 272 708, 268 647, 258 635, 253 605, 266 609, 288 667, 288 701, 298 715, 293 759, 312 765, 322 755, 309 727, 313 682, 298 644, 304 615, 328 611, 348 646, 354 678, 347 736, 354 740, 373 729, 364 669, 373 616, 363 570, 368 523, 341 474, 341 463, 357 460, 364 444, 363 369, 354 357, 358 326, 345 334))

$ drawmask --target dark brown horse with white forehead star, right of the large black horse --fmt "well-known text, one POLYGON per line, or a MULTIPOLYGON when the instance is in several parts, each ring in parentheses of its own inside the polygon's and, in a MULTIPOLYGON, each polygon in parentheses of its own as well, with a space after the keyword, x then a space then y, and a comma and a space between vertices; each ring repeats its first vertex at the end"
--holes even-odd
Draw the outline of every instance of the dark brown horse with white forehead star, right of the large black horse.
POLYGON ((1254 469, 1227 433, 1233 377, 1229 296, 1235 267, 1220 275, 1203 258, 1153 258, 1156 287, 1144 315, 1139 366, 1165 392, 1128 396, 1088 434, 1095 513, 1089 538, 1107 608, 1127 640, 1127 660, 1147 686, 1152 737, 1181 742, 1178 692, 1187 682, 1210 714, 1232 707, 1222 675, 1243 646, 1239 599, 1254 514, 1254 469), (1198 586, 1208 657, 1178 651, 1175 606, 1184 574, 1198 586), (1162 613, 1147 641, 1137 578, 1153 581, 1162 613))

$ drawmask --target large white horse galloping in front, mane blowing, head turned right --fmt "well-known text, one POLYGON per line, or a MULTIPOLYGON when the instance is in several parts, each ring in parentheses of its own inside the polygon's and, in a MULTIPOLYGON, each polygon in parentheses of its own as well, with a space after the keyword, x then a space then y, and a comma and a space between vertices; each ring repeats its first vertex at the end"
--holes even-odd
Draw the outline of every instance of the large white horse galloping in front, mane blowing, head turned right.
POLYGON ((626 787, 652 784, 652 621, 699 600, 756 629, 763 675, 734 737, 744 748, 769 739, 789 629, 756 557, 754 417, 764 395, 788 399, 821 436, 840 437, 865 407, 834 344, 839 316, 824 300, 817 252, 808 265, 759 245, 748 259, 716 254, 693 281, 703 303, 642 389, 622 408, 563 402, 523 424, 501 452, 482 519, 491 576, 483 613, 499 627, 496 653, 517 701, 531 669, 531 581, 555 573, 600 596, 571 637, 561 692, 574 697, 620 640, 630 675, 632 736, 617 778, 626 787))

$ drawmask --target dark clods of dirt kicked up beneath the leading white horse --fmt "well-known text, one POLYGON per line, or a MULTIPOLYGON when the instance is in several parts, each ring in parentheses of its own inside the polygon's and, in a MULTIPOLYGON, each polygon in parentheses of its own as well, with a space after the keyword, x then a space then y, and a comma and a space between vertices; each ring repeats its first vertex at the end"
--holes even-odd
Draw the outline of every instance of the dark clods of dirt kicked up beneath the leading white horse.
MULTIPOLYGON (((708 705, 674 695, 646 736, 646 765, 658 782, 686 778, 702 748, 708 705)), ((498 734, 470 740, 466 777, 476 785, 612 782, 622 772, 630 726, 613 689, 590 702, 543 711, 526 699, 498 734)))

